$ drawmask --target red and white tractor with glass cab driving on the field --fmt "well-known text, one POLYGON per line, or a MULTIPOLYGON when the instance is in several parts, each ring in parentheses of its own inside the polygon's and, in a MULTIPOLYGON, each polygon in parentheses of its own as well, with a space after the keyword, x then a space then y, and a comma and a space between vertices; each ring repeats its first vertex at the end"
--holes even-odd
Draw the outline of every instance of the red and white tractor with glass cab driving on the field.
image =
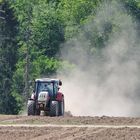
POLYGON ((36 79, 34 90, 27 103, 27 114, 40 115, 44 111, 48 116, 64 115, 64 95, 59 91, 62 81, 59 79, 36 79))

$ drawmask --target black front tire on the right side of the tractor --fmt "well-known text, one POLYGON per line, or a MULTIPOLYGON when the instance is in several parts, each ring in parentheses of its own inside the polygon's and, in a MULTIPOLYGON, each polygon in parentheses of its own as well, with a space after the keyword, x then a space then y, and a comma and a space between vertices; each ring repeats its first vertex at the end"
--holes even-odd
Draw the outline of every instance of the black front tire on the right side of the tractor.
POLYGON ((50 116, 58 116, 59 115, 59 105, 58 101, 51 101, 50 103, 50 116))

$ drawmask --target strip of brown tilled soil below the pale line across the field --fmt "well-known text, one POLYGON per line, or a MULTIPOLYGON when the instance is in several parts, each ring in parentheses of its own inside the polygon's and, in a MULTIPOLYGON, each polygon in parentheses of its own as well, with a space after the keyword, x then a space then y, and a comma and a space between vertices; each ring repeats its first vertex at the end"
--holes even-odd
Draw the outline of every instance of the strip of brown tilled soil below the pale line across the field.
POLYGON ((0 140, 135 140, 138 128, 0 127, 0 140))

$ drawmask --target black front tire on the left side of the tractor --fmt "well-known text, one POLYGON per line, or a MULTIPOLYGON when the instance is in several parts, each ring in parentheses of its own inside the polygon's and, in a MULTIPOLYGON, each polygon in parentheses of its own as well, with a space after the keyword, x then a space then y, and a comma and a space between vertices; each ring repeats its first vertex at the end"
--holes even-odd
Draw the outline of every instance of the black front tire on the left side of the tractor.
POLYGON ((27 114, 29 115, 35 115, 35 101, 29 100, 27 105, 27 114))

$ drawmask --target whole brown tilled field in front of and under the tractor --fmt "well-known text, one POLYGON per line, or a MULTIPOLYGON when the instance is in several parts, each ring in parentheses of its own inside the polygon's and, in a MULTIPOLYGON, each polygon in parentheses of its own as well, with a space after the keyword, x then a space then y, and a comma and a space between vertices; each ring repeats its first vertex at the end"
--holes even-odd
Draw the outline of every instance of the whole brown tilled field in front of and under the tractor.
POLYGON ((140 140, 140 118, 125 117, 46 117, 0 115, 0 140, 140 140), (11 126, 6 126, 10 124, 11 126), (106 127, 29 127, 14 124, 113 125, 106 127), (4 127, 2 125, 5 125, 4 127))

